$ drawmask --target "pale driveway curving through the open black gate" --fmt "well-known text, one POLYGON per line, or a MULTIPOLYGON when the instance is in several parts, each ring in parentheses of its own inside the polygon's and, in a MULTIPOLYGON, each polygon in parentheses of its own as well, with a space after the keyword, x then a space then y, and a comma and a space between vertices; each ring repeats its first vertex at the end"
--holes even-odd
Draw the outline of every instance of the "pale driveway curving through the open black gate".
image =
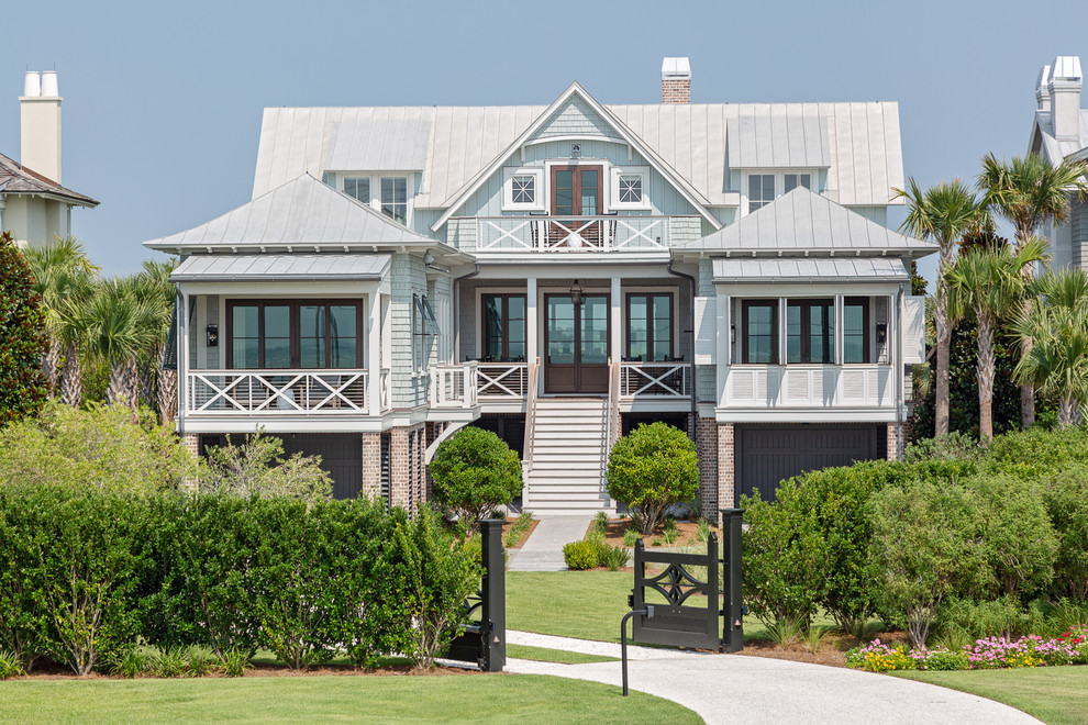
MULTIPOLYGON (((514 644, 620 656, 620 645, 509 632, 514 644)), ((632 690, 667 698, 708 724, 1039 723, 1007 705, 888 674, 769 657, 629 647, 632 690)), ((507 670, 620 685, 620 662, 557 665, 507 660, 507 670)))

